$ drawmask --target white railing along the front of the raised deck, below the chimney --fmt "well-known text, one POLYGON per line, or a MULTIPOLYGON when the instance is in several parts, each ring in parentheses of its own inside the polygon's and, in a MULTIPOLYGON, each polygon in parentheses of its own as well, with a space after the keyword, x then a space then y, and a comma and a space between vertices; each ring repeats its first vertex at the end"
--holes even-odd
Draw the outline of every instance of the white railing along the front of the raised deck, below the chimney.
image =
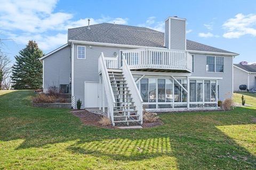
POLYGON ((130 69, 169 69, 192 71, 192 55, 186 50, 138 48, 123 50, 130 69))

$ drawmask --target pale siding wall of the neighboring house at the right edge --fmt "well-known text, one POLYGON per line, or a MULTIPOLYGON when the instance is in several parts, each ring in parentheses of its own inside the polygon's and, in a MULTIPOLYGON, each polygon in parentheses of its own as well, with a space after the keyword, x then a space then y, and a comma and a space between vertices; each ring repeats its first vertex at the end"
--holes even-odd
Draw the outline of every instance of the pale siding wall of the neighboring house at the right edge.
POLYGON ((248 73, 233 67, 234 69, 234 91, 239 90, 241 84, 246 84, 248 86, 248 73))

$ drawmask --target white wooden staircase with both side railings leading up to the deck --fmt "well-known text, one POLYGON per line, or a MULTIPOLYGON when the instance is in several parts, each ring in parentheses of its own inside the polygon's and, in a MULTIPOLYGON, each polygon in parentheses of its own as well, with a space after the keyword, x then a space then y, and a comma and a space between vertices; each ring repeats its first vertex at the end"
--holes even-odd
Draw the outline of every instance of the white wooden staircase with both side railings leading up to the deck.
POLYGON ((126 60, 123 60, 122 69, 117 69, 117 66, 116 69, 108 69, 107 65, 113 63, 105 60, 101 53, 99 74, 103 83, 103 95, 107 98, 108 117, 112 124, 118 126, 142 124, 142 98, 126 60))

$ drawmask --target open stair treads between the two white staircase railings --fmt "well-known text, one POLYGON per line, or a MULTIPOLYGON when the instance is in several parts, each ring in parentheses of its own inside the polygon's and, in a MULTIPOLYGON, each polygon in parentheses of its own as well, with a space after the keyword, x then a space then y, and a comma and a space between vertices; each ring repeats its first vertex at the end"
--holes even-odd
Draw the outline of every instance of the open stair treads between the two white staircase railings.
POLYGON ((140 115, 133 102, 132 94, 122 70, 108 70, 108 75, 115 97, 114 123, 117 126, 139 125, 140 115))

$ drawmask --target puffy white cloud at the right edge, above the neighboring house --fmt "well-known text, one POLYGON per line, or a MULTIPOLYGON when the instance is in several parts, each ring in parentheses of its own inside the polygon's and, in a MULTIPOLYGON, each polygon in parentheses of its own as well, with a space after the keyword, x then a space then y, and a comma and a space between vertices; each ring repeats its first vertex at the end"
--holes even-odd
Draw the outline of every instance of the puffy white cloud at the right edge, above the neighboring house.
POLYGON ((227 30, 225 38, 239 38, 244 35, 256 37, 256 14, 244 15, 239 13, 235 18, 228 19, 222 27, 227 30))

